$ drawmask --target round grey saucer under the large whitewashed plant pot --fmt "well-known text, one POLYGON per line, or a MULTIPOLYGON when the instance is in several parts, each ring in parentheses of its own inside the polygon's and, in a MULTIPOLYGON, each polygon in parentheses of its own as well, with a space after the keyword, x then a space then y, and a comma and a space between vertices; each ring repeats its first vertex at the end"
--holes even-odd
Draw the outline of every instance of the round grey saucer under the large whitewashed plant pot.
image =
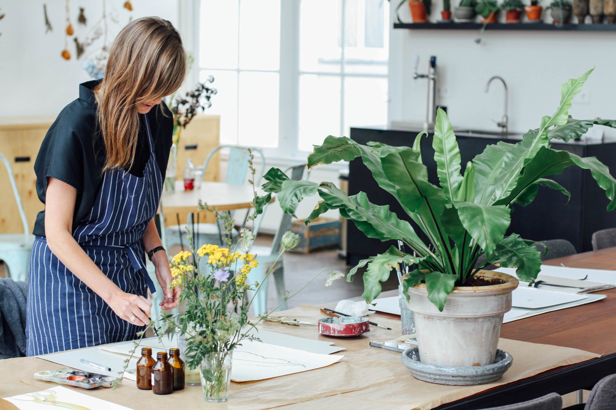
POLYGON ((513 356, 505 350, 496 350, 496 360, 487 366, 437 366, 421 363, 419 347, 411 347, 402 353, 402 363, 413 377, 424 382, 448 385, 474 385, 490 383, 503 377, 511 367, 513 356))

